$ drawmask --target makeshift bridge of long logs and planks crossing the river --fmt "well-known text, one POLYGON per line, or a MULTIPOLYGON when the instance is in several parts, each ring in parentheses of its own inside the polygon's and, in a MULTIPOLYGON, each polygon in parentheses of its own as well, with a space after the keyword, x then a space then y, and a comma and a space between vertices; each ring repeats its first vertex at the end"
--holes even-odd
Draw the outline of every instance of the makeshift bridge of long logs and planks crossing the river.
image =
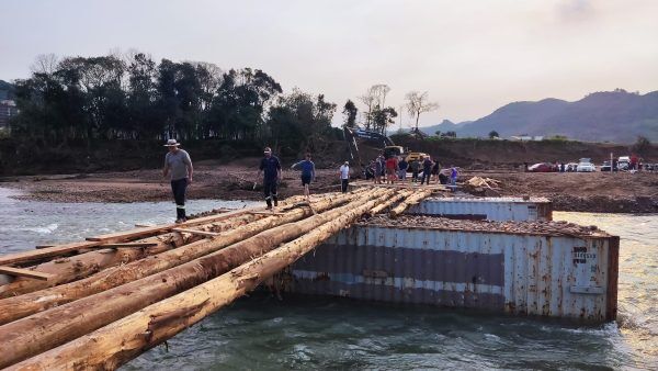
POLYGON ((0 285, 0 368, 115 369, 253 290, 363 215, 388 210, 395 217, 431 192, 360 188, 309 203, 286 201, 270 214, 241 210, 0 257, 2 266, 33 272, 48 267, 55 276, 43 286, 27 284, 27 277, 0 285), (80 273, 70 261, 99 267, 80 273))

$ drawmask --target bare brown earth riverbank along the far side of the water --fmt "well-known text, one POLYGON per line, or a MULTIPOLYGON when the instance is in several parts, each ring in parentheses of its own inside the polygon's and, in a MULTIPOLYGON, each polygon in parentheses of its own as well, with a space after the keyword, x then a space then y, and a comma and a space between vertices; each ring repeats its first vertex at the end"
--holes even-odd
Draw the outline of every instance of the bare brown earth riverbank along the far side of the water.
MULTIPOLYGON (((241 164, 220 165, 216 161, 195 164, 194 182, 189 189, 191 200, 262 200, 260 184, 253 189, 258 159, 241 164), (252 167, 242 164, 253 162, 252 167)), ((658 173, 526 173, 513 170, 464 171, 461 181, 470 177, 500 181, 499 195, 546 196, 556 211, 599 213, 657 213, 658 173)), ((0 187, 18 189, 15 198, 52 202, 143 202, 169 201, 169 182, 159 169, 124 172, 99 172, 59 176, 3 178, 0 187)), ((318 169, 311 192, 324 193, 340 188, 338 171, 318 169)), ((282 198, 302 194, 297 171, 284 164, 279 193, 282 198)))

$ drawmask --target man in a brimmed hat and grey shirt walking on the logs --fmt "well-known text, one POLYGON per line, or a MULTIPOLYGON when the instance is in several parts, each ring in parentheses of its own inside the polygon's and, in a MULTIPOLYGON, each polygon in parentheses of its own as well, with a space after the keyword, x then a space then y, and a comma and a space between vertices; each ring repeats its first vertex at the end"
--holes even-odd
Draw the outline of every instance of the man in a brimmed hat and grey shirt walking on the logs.
POLYGON ((175 223, 183 223, 188 220, 185 215, 185 192, 188 186, 192 184, 192 159, 190 154, 184 149, 180 149, 181 144, 175 139, 167 140, 164 147, 169 148, 169 153, 164 156, 164 169, 162 177, 171 175, 171 191, 175 201, 175 223))

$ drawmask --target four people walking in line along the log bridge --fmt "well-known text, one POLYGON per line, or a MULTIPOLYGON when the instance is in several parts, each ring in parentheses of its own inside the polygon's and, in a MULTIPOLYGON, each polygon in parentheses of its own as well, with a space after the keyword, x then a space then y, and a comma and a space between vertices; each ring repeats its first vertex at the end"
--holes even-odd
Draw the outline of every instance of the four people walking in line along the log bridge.
MULTIPOLYGON (((181 144, 175 139, 167 140, 164 147, 167 147, 169 151, 164 156, 164 167, 162 169, 162 177, 169 177, 171 182, 171 192, 173 193, 177 211, 175 223, 182 223, 188 220, 185 213, 185 194, 188 187, 192 184, 192 176, 194 172, 190 154, 184 149, 179 148, 180 145, 181 144)), ((257 181, 253 182, 253 189, 256 189, 258 180, 262 177, 266 209, 272 210, 272 206, 279 205, 276 186, 282 178, 281 161, 276 156, 272 155, 272 149, 270 147, 264 148, 263 155, 256 177, 257 181)), ((296 168, 302 171, 304 195, 308 200, 310 195, 309 184, 311 181, 316 180, 315 164, 310 159, 310 154, 306 154, 302 161, 296 162, 291 167, 291 169, 296 168)), ((345 193, 350 181, 350 164, 344 161, 338 173, 341 181, 341 191, 345 193)))

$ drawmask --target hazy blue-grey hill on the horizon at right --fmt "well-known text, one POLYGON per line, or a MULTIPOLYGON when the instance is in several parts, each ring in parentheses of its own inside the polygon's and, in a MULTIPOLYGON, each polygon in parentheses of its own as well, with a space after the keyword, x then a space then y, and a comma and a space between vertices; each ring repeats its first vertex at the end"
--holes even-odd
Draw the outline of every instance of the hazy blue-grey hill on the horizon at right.
POLYGON ((460 137, 486 137, 496 131, 512 135, 564 135, 585 142, 633 143, 638 135, 658 140, 658 91, 646 94, 615 91, 595 92, 576 102, 544 99, 513 102, 473 122, 450 121, 421 127, 428 134, 436 130, 455 131, 460 137), (439 128, 441 127, 441 128, 439 128))

